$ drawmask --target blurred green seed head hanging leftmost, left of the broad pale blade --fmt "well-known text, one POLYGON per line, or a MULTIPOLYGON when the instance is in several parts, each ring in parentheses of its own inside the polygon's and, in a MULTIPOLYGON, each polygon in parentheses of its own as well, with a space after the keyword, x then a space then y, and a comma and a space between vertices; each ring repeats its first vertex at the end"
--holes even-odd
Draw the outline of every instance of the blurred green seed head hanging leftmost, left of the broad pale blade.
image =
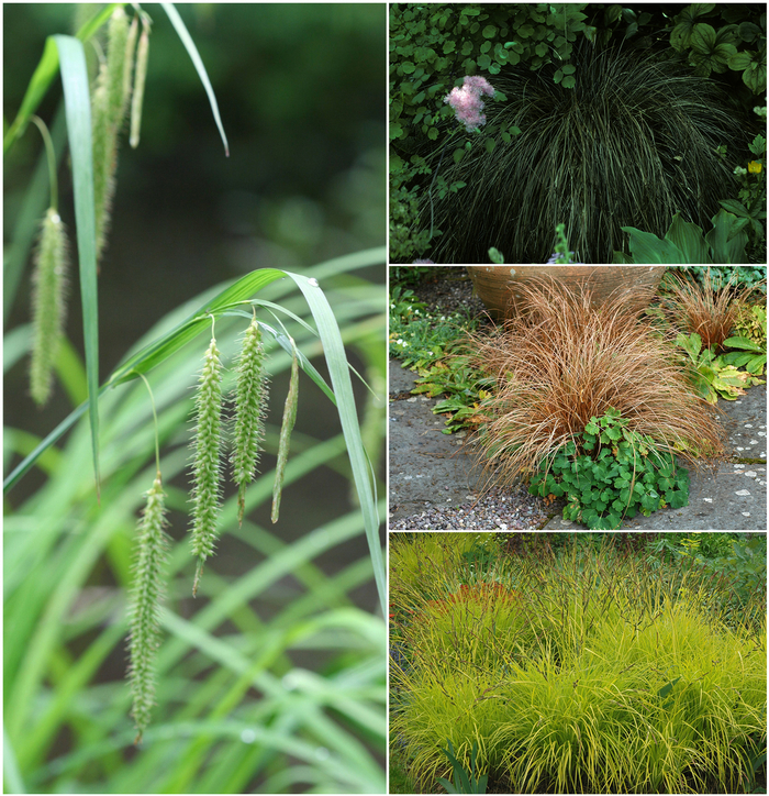
POLYGON ((30 391, 38 407, 51 397, 53 371, 67 314, 66 289, 69 268, 67 231, 56 210, 43 219, 32 277, 32 362, 30 391))

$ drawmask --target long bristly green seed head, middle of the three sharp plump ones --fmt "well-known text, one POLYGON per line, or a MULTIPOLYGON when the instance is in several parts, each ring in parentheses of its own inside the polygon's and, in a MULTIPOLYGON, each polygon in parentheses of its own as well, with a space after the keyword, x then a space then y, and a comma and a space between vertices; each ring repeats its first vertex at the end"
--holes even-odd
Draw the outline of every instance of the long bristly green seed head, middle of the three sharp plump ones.
POLYGON ((192 482, 192 554, 198 559, 192 594, 205 559, 213 553, 221 508, 222 363, 216 339, 211 339, 196 397, 194 462, 192 482))

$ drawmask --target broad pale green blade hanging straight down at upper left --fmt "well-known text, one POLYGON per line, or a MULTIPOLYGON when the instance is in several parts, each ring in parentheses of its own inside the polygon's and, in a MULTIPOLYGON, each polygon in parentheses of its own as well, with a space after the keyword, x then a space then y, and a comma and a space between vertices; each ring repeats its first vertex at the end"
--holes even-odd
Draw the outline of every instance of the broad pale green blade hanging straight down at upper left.
MULTIPOLYGON (((69 152, 73 159, 73 187, 77 247, 80 263, 82 335, 86 347, 88 395, 99 391, 99 295, 97 287, 96 221, 93 209, 93 161, 91 144, 91 102, 88 69, 82 43, 73 36, 54 36, 62 64, 62 84, 67 113, 69 152)), ((89 401, 91 445, 97 496, 99 486, 99 402, 89 401)))

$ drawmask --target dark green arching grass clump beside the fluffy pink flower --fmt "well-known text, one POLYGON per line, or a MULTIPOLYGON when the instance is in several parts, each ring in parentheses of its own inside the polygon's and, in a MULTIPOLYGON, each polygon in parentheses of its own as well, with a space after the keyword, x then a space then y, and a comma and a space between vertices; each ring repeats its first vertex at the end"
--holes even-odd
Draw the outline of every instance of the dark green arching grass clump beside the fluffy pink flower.
POLYGON ((545 263, 561 222, 581 263, 613 262, 623 225, 661 237, 680 212, 710 229, 738 163, 716 147, 728 144, 736 158, 747 145, 725 92, 639 51, 581 42, 572 57, 572 89, 554 81, 556 64, 505 67, 493 78, 506 97, 488 107, 493 139, 442 167, 447 183, 467 187, 433 198, 443 230, 435 262, 483 263, 494 246, 511 263, 545 263))

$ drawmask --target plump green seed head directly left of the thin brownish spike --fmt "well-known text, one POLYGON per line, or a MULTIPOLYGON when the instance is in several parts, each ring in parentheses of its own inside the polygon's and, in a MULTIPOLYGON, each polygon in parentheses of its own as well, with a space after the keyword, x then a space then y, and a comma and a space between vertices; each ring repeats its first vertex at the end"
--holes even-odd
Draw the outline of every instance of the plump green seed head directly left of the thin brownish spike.
POLYGON ((235 393, 235 432, 230 457, 232 478, 237 484, 237 521, 243 522, 246 487, 254 480, 259 463, 259 450, 265 436, 267 407, 267 374, 261 331, 254 319, 243 336, 237 364, 235 393))

